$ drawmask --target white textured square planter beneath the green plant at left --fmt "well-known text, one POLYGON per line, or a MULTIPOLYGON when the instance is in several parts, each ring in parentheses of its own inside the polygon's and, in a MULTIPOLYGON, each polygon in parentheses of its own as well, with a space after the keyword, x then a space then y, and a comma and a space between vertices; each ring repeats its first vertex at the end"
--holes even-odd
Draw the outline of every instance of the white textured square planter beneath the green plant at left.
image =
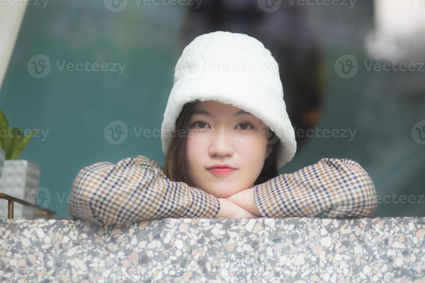
MULTIPOLYGON (((28 192, 37 188, 40 182, 40 165, 28 160, 6 160, 0 177, 0 193, 27 200, 28 192)), ((0 199, 0 219, 7 218, 7 200, 0 199)), ((34 210, 14 202, 14 219, 33 219, 34 210)))

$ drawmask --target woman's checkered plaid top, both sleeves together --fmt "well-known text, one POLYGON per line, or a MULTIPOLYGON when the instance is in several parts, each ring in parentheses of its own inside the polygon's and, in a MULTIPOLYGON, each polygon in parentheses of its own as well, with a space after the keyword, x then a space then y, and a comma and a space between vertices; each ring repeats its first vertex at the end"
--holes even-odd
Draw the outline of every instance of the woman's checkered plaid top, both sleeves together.
MULTIPOLYGON (((254 187, 263 217, 369 217, 377 206, 374 184, 359 163, 323 158, 254 187)), ((220 203, 198 188, 173 182, 154 160, 138 155, 98 162, 75 178, 68 211, 97 224, 160 218, 214 218, 220 203)))

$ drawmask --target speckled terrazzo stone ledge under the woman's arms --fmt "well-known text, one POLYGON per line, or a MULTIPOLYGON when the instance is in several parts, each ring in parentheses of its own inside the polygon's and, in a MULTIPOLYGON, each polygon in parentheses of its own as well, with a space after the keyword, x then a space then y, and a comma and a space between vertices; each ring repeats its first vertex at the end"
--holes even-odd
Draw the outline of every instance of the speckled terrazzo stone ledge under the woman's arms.
POLYGON ((425 218, 1 219, 7 282, 425 282, 425 218))

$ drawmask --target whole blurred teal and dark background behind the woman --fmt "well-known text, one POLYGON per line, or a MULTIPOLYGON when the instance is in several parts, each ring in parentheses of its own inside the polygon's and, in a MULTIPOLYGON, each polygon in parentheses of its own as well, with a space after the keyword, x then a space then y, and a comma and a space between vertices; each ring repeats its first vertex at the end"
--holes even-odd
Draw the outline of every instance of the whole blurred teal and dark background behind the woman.
POLYGON ((38 130, 19 159, 40 166, 55 217, 70 217, 81 168, 139 154, 164 165, 183 48, 212 31, 248 34, 280 64, 295 127, 280 174, 350 158, 376 186, 372 217, 425 216, 424 27, 424 0, 30 1, 0 109, 9 126, 38 130))

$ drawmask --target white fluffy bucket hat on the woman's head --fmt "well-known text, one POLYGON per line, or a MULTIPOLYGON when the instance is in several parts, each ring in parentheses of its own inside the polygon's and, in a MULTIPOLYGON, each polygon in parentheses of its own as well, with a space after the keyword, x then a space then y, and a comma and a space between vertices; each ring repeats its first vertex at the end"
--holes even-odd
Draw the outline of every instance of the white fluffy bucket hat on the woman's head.
POLYGON ((164 154, 183 105, 197 99, 232 104, 262 120, 279 138, 278 168, 294 157, 297 143, 283 101, 278 63, 258 39, 215 31, 196 37, 184 48, 161 125, 164 154))

